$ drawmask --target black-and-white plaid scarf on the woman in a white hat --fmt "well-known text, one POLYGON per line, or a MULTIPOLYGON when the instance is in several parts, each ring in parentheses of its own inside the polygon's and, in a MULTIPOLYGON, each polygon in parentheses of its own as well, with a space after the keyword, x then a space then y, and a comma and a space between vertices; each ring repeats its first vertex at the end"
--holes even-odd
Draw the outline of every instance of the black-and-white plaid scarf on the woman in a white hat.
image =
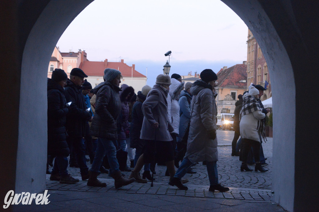
MULTIPOLYGON (((263 111, 263 109, 261 108, 259 102, 257 101, 256 97, 251 96, 251 95, 244 95, 242 97, 242 107, 241 107, 241 111, 240 111, 240 120, 241 117, 243 117, 244 115, 247 115, 249 113, 252 113, 256 110, 260 110, 263 111)), ((266 129, 265 129, 265 125, 263 120, 258 120, 258 134, 261 136, 261 138, 266 142, 267 138, 266 138, 266 129)))

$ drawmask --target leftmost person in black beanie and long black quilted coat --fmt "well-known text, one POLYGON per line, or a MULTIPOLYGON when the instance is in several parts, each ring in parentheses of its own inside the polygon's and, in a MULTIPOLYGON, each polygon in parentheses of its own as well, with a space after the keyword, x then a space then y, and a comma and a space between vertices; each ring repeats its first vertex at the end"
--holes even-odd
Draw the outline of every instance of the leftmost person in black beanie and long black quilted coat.
POLYGON ((63 89, 67 79, 66 73, 57 68, 52 72, 52 79, 48 79, 48 154, 56 157, 50 180, 73 184, 79 180, 67 171, 70 149, 66 142, 65 122, 69 105, 63 89))

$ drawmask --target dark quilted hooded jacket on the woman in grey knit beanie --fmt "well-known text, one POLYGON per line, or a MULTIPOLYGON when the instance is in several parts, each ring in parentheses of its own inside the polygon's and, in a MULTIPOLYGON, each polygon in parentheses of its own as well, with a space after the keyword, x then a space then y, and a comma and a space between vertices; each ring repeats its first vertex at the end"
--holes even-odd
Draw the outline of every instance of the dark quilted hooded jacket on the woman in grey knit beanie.
POLYGON ((97 138, 116 140, 117 120, 121 113, 121 88, 101 82, 94 88, 96 94, 95 113, 91 124, 91 134, 97 138))

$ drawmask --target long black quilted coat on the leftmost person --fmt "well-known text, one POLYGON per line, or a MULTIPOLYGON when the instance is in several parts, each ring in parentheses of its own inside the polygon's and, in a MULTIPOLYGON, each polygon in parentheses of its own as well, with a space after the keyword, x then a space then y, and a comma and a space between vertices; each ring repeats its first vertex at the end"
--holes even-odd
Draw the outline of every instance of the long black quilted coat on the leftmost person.
POLYGON ((66 108, 64 89, 55 81, 48 80, 48 155, 69 156, 66 142, 66 108))

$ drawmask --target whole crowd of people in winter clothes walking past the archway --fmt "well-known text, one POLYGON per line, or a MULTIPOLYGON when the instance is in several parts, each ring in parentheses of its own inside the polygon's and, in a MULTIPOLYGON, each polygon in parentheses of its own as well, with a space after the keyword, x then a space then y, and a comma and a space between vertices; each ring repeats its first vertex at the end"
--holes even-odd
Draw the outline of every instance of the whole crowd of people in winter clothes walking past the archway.
MULTIPOLYGON (((189 180, 182 177, 196 173, 191 167, 203 162, 209 191, 229 190, 218 178, 214 89, 218 77, 211 69, 203 70, 194 83, 183 82, 179 74, 159 74, 153 87, 145 85, 137 94, 131 86, 120 87, 122 74, 116 69, 105 69, 104 82, 95 88, 84 80, 86 77, 83 70, 73 68, 70 79, 62 69, 55 69, 48 78, 48 164, 53 166, 49 171, 47 165, 50 180, 79 182, 67 171, 70 155, 70 167, 80 169, 81 179, 87 180, 88 186, 107 186, 98 180, 100 173, 113 177, 115 188, 147 183, 155 180, 151 172, 156 173, 157 164, 167 166, 169 185, 187 190, 184 184, 189 180), (122 172, 130 175, 125 178, 122 172)), ((232 155, 241 155, 241 171, 252 171, 247 165, 252 149, 255 171, 265 172, 261 143, 268 111, 259 100, 258 85, 255 87, 249 86, 248 92, 238 96, 232 155), (240 150, 236 149, 240 143, 240 150)))

